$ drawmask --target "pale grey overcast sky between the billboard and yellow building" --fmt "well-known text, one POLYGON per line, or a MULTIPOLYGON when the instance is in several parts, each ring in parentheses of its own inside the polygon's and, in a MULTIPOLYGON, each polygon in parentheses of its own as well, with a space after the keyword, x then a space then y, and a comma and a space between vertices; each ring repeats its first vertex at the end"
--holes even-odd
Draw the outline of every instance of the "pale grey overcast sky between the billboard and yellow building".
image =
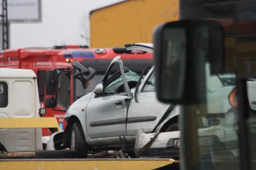
POLYGON ((89 45, 89 13, 124 0, 41 0, 41 23, 10 23, 9 48, 89 45))

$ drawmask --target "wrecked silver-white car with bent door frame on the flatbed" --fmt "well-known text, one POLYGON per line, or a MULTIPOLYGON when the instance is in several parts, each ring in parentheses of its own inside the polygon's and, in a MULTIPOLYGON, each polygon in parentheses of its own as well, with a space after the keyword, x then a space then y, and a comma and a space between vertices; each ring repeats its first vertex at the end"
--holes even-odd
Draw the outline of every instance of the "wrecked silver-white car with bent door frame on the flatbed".
MULTIPOLYGON (((153 53, 152 44, 126 47, 153 53)), ((210 70, 207 66, 206 69, 210 70)), ((228 96, 234 88, 230 84, 224 85, 216 75, 210 78, 214 85, 209 85, 209 99, 218 94, 228 96)), ((232 122, 226 122, 223 117, 224 114, 233 115, 228 100, 220 102, 215 98, 210 102, 214 107, 208 108, 208 117, 201 119, 202 126, 232 126, 232 122)), ((180 112, 175 107, 175 104, 164 104, 157 100, 154 67, 146 76, 140 76, 124 68, 120 57, 116 57, 94 92, 69 107, 65 115, 68 124, 64 130, 63 144, 85 155, 88 150, 125 149, 135 145, 139 129, 143 129, 144 133, 178 131, 180 112), (117 65, 119 71, 112 72, 117 65)))

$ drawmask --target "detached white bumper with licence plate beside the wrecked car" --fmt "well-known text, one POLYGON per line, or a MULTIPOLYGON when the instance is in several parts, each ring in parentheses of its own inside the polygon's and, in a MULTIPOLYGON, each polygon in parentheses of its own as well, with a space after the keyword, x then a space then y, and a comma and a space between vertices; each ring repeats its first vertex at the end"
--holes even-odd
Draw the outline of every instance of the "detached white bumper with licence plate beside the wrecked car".
MULTIPOLYGON (((137 157, 177 158, 179 156, 177 141, 180 140, 180 131, 160 133, 155 138, 152 145, 138 155, 140 149, 142 149, 154 135, 155 133, 144 133, 143 129, 138 131, 134 146, 134 153, 137 157)), ((213 152, 214 156, 218 159, 224 158, 223 155, 229 155, 228 158, 238 156, 238 136, 233 127, 213 126, 198 129, 198 136, 200 153, 206 154, 213 152), (206 145, 204 139, 211 139, 211 145, 206 145)))

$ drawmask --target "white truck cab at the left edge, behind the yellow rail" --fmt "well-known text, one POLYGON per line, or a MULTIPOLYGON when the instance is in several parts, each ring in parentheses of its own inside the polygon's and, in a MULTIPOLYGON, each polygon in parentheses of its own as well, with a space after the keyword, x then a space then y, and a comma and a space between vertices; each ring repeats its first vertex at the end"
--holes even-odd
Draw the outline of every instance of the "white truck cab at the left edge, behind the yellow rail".
MULTIPOLYGON (((32 70, 0 68, 0 119, 40 117, 39 108, 36 74, 32 70)), ((0 128, 0 151, 36 150, 42 150, 42 129, 0 128)))

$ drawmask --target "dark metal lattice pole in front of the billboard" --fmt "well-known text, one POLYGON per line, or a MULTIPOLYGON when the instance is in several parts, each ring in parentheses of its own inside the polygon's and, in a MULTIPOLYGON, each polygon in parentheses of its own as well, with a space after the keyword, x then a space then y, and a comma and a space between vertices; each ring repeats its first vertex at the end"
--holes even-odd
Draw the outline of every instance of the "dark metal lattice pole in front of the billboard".
POLYGON ((2 0, 2 36, 3 36, 3 50, 9 48, 9 37, 8 37, 8 17, 7 17, 7 0, 2 0))

